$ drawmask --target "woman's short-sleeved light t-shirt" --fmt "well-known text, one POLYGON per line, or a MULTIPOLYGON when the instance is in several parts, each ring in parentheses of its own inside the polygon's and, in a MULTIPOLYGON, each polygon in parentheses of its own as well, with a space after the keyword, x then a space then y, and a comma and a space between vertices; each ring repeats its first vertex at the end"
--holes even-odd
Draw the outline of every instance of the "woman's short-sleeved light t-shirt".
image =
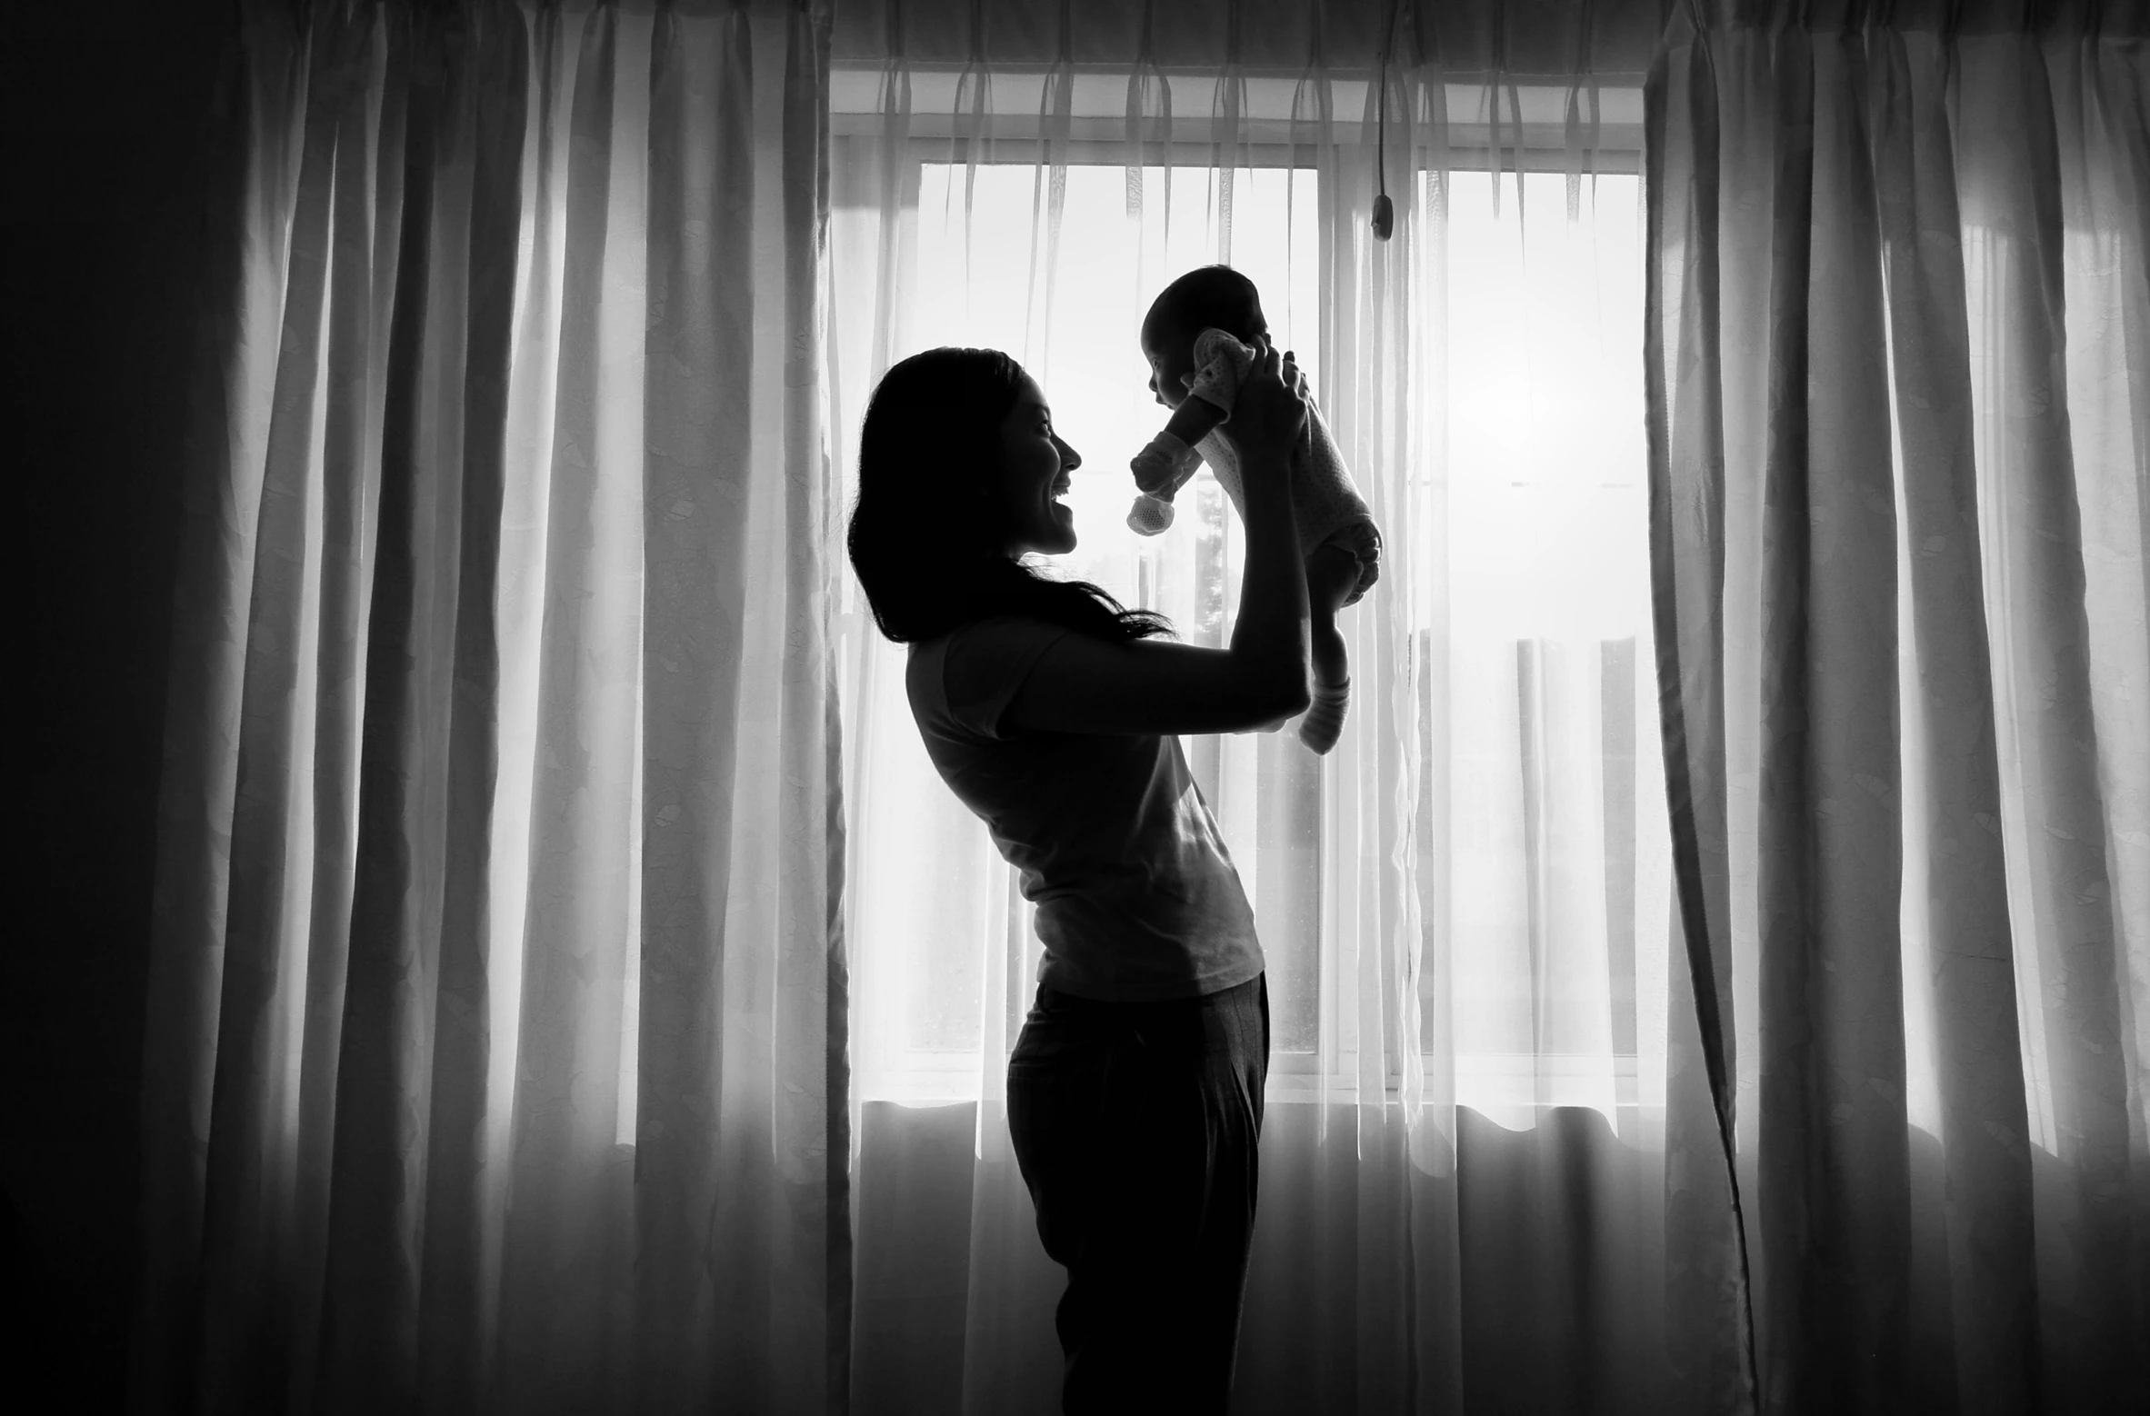
POLYGON ((1253 909, 1178 737, 1002 733, 1062 634, 1075 630, 983 619, 912 645, 905 673, 927 756, 1038 907, 1038 982, 1137 1003, 1251 980, 1253 909))

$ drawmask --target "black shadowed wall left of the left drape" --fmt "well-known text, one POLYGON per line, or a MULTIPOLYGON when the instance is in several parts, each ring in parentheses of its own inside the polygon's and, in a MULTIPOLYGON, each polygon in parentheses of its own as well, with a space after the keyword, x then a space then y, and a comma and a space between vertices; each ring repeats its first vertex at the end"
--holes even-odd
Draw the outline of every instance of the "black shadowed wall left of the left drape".
POLYGON ((202 155, 232 0, 34 0, 0 45, 11 662, 9 1390, 116 1407, 202 155), (28 662, 28 670, 24 670, 28 662))

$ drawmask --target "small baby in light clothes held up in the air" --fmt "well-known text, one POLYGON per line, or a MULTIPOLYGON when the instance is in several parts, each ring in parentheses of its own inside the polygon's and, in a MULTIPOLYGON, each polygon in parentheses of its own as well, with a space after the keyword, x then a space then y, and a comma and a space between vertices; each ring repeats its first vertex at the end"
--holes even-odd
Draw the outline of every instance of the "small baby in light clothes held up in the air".
MULTIPOLYGON (((1129 526, 1142 535, 1170 526, 1172 494, 1202 462, 1208 462, 1241 518, 1247 516, 1238 460, 1217 425, 1232 413, 1256 348, 1266 344, 1262 299, 1253 281, 1230 266, 1189 271, 1157 297, 1142 320, 1142 357, 1150 361, 1150 391, 1174 415, 1131 462, 1142 494, 1127 514, 1129 526)), ((1329 752, 1350 703, 1350 658, 1337 632, 1337 610, 1354 604, 1380 576, 1380 529, 1312 404, 1305 438, 1292 449, 1290 475, 1314 617, 1314 700, 1299 720, 1299 741, 1329 752)))

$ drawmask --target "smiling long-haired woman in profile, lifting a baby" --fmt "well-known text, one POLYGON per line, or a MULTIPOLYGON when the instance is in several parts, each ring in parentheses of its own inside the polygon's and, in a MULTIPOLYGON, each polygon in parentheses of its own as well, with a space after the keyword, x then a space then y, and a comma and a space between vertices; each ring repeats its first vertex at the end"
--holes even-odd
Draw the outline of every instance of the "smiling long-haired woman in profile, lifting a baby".
POLYGON ((1045 960, 1008 1061, 1008 1132, 1069 1270, 1066 1412, 1223 1412, 1253 1231, 1268 995, 1253 911, 1178 733, 1307 705, 1307 584, 1286 490, 1305 398, 1264 348, 1226 432, 1247 557, 1230 649, 1047 580, 1081 458, 995 350, 888 370, 858 447, 851 565, 909 645, 927 754, 1036 902, 1045 960))

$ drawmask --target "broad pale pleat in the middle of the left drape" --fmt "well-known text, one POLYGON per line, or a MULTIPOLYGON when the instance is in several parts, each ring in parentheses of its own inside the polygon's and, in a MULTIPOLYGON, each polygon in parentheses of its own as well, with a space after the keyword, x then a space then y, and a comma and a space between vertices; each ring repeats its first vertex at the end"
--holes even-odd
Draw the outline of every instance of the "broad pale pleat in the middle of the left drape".
POLYGON ((510 1203, 501 1401, 617 1405, 630 1364, 621 1057, 634 930, 641 640, 643 288, 639 73, 647 30, 593 9, 576 43, 561 204, 544 621, 531 786, 529 915, 510 1203), (636 43, 641 41, 641 45, 636 43), (619 82, 624 75, 626 82, 619 82), (615 198, 615 193, 619 193, 615 198))

